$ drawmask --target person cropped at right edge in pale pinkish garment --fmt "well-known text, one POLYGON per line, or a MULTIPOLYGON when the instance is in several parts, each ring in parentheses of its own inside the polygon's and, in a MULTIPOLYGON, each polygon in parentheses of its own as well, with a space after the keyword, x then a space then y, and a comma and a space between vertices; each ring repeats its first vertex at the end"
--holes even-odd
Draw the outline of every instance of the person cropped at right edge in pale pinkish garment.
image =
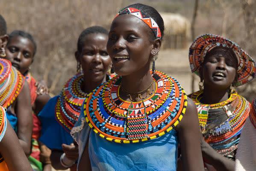
POLYGON ((235 156, 235 171, 255 171, 256 169, 256 99, 250 117, 247 118, 240 136, 235 156))

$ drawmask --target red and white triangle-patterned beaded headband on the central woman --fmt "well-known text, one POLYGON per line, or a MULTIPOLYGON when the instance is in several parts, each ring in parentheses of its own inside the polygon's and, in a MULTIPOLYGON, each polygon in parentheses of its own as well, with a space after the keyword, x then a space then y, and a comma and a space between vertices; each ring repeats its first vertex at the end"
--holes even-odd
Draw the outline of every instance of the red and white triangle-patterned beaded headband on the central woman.
POLYGON ((150 27, 150 29, 153 31, 156 38, 161 38, 162 36, 161 31, 156 21, 153 18, 144 14, 141 10, 135 9, 135 8, 125 8, 125 9, 122 9, 120 12, 118 12, 116 17, 121 14, 131 14, 135 17, 138 17, 150 27))

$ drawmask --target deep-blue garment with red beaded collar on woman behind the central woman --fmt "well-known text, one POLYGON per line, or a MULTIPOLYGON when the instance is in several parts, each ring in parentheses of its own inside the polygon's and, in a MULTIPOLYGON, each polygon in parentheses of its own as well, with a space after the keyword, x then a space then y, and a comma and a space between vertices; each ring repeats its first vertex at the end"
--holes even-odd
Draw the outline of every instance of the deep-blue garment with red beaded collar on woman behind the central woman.
MULTIPOLYGON (((106 75, 106 80, 113 76, 106 75)), ((72 76, 59 96, 50 99, 39 113, 42 127, 40 141, 48 148, 62 150, 62 144, 74 142, 70 131, 77 122, 82 102, 87 96, 87 93, 82 91, 83 82, 82 73, 72 76)))

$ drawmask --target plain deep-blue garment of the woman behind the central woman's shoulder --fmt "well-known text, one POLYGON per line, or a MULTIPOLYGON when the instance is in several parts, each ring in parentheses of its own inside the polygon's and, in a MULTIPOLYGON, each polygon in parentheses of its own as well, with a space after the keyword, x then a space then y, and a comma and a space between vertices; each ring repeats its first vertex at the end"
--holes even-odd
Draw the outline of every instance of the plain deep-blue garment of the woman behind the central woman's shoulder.
POLYGON ((38 114, 41 121, 41 137, 43 142, 50 149, 62 150, 62 144, 74 142, 70 133, 65 130, 55 118, 55 105, 59 96, 50 99, 38 114))

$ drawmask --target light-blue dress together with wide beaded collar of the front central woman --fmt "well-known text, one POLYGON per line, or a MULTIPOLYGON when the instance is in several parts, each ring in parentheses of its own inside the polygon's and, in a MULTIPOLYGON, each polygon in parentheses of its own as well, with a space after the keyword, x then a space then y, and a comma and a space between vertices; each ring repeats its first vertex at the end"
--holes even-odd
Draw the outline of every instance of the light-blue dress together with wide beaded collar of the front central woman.
POLYGON ((93 171, 176 171, 178 139, 173 128, 185 113, 187 96, 174 78, 159 71, 152 76, 156 90, 144 101, 119 97, 121 76, 85 99, 71 135, 80 151, 89 137, 93 171))

